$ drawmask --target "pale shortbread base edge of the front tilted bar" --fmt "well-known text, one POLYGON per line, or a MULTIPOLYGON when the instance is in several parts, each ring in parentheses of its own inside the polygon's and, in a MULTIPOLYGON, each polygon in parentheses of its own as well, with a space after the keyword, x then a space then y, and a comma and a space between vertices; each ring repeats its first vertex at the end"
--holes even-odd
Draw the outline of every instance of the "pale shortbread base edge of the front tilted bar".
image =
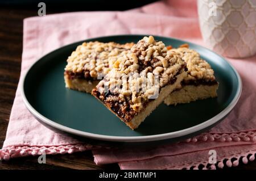
MULTIPOLYGON (((131 119, 129 122, 125 122, 127 126, 129 126, 131 129, 136 129, 138 126, 146 119, 148 115, 152 111, 155 110, 156 107, 159 106, 160 103, 163 102, 163 100, 170 95, 172 91, 174 91, 177 87, 180 86, 180 83, 183 81, 183 79, 187 77, 187 73, 183 72, 176 76, 176 81, 172 85, 167 85, 161 89, 159 92, 159 96, 157 99, 152 100, 150 103, 148 103, 147 107, 140 112, 137 116, 135 116, 133 119, 131 119)), ((111 110, 110 110, 111 111, 111 110)), ((115 115, 117 115, 115 113, 115 115)), ((118 116, 118 115, 117 115, 118 116)))

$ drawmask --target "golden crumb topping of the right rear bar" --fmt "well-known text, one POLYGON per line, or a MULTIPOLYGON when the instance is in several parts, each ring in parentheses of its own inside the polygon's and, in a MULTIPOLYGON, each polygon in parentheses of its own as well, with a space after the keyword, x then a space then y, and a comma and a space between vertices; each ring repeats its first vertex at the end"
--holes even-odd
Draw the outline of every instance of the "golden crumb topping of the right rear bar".
POLYGON ((179 53, 187 64, 188 76, 184 81, 198 81, 204 79, 206 82, 216 81, 214 71, 207 61, 200 58, 200 54, 195 50, 189 49, 188 45, 176 49, 170 49, 168 52, 179 53))

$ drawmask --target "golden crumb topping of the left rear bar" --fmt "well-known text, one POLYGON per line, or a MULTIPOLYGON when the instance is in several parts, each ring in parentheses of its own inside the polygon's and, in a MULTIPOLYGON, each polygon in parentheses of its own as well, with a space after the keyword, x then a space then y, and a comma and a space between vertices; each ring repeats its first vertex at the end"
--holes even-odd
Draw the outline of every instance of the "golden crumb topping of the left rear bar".
POLYGON ((85 42, 68 57, 65 71, 86 79, 97 79, 99 73, 107 74, 117 58, 129 52, 133 45, 134 43, 85 42))

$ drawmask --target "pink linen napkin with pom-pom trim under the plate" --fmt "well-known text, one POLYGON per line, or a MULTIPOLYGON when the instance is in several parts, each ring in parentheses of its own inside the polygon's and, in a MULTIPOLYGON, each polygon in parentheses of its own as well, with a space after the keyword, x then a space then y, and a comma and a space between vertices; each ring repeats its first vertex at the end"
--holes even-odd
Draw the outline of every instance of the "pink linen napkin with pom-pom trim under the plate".
MULTIPOLYGON (((24 20, 22 78, 39 57, 65 44, 89 37, 152 34, 201 44, 196 1, 164 1, 125 12, 73 12, 24 20)), ((217 152, 218 167, 237 166, 256 153, 256 56, 228 59, 243 81, 241 98, 230 115, 207 133, 176 144, 151 149, 104 149, 52 132, 31 116, 20 96, 20 83, 11 110, 0 159, 27 155, 73 153, 93 149, 97 164, 118 162, 121 169, 182 169, 209 165, 208 151, 217 152), (227 159, 227 161, 225 160, 227 159), (225 160, 225 161, 224 161, 225 160)))

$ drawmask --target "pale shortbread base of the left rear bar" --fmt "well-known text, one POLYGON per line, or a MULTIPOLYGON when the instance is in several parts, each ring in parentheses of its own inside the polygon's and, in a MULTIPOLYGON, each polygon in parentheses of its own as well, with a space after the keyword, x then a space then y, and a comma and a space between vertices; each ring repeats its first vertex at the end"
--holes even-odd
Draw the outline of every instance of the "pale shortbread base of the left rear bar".
POLYGON ((64 75, 66 87, 73 90, 91 93, 93 88, 100 81, 86 81, 85 79, 73 78, 69 79, 68 75, 64 75))

